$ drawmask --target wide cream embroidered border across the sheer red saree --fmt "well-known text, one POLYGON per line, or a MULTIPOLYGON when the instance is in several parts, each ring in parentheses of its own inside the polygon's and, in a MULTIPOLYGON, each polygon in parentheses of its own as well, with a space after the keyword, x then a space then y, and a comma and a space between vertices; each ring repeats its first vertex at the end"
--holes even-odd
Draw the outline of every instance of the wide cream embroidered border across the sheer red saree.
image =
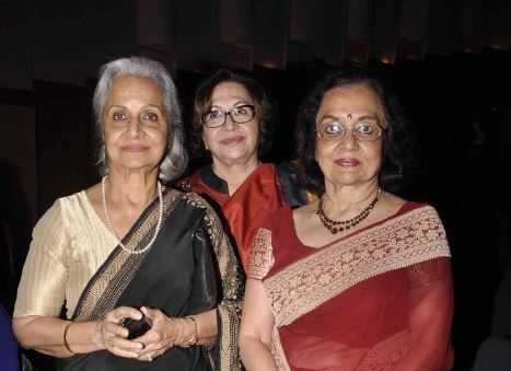
POLYGON ((295 262, 263 281, 277 326, 376 275, 451 256, 437 211, 425 206, 295 262))

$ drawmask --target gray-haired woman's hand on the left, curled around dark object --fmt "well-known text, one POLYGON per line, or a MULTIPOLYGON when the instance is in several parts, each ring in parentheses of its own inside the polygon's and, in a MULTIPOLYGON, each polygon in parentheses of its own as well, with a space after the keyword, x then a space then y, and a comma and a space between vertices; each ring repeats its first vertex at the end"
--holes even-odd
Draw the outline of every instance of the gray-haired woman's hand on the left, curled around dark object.
POLYGON ((119 325, 126 317, 140 320, 142 313, 130 306, 119 306, 108 312, 103 321, 97 322, 94 343, 116 356, 139 358, 143 344, 128 340, 128 329, 119 325))

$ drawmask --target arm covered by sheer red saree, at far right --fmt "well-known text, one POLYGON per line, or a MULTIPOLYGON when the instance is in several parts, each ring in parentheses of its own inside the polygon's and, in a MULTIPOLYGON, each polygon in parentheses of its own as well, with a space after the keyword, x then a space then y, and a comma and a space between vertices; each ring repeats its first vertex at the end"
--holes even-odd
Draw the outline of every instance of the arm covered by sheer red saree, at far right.
POLYGON ((417 264, 408 269, 408 280, 409 350, 393 370, 442 370, 451 351, 453 286, 450 259, 442 257, 417 264))

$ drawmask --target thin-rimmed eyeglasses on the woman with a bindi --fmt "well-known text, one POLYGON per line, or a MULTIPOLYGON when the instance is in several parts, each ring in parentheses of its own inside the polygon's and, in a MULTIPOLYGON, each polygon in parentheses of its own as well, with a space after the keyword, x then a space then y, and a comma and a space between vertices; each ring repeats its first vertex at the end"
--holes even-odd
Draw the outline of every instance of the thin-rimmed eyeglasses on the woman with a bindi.
POLYGON ((348 129, 353 132, 357 141, 376 141, 383 135, 383 128, 376 123, 358 123, 355 126, 327 123, 320 127, 316 132, 323 140, 337 141, 345 137, 348 129))

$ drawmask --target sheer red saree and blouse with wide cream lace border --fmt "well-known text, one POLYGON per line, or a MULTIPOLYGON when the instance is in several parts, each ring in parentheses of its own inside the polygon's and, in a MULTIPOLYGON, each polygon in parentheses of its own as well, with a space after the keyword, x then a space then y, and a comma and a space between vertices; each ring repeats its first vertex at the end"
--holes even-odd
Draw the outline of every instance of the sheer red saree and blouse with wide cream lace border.
POLYGON ((248 276, 271 304, 278 369, 449 370, 449 257, 442 223, 423 204, 320 248, 300 242, 289 208, 275 212, 248 276))

